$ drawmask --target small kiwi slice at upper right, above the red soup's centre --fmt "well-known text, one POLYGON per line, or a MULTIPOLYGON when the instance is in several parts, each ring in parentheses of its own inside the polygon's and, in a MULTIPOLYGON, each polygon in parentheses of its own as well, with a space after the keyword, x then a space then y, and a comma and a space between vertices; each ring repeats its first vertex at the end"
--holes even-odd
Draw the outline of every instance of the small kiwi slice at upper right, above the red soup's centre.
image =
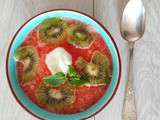
POLYGON ((78 47, 86 48, 92 42, 92 35, 84 25, 71 25, 68 30, 69 43, 78 47))

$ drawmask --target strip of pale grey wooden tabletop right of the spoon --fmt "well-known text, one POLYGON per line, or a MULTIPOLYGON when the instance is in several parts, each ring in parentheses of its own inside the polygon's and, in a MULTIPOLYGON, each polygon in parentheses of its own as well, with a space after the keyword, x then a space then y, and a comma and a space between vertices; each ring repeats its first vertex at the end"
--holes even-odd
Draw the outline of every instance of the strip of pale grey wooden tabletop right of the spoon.
POLYGON ((160 1, 144 0, 146 32, 134 50, 134 83, 139 120, 160 120, 160 1))

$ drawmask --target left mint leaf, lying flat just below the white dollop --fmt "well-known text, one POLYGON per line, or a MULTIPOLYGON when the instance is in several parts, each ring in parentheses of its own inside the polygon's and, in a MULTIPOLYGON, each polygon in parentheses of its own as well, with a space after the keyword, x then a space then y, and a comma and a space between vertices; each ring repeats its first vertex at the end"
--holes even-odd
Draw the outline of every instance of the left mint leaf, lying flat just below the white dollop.
POLYGON ((47 76, 44 78, 45 82, 54 87, 58 87, 67 80, 66 75, 62 72, 57 72, 52 76, 47 76))

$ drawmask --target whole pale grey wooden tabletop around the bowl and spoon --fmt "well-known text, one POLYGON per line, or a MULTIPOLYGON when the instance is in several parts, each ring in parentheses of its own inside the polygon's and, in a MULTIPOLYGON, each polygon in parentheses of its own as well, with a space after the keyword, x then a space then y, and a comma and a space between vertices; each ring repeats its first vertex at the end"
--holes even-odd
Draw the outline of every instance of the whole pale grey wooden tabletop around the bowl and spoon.
MULTIPOLYGON (((138 120, 160 120, 160 1, 143 0, 146 32, 134 49, 134 88, 138 120)), ((70 8, 94 16, 110 31, 122 59, 121 83, 114 99, 89 120, 121 120, 128 73, 128 44, 119 32, 119 21, 126 0, 0 0, 0 120, 37 120, 16 102, 9 89, 5 58, 16 30, 32 16, 55 8, 70 8)))

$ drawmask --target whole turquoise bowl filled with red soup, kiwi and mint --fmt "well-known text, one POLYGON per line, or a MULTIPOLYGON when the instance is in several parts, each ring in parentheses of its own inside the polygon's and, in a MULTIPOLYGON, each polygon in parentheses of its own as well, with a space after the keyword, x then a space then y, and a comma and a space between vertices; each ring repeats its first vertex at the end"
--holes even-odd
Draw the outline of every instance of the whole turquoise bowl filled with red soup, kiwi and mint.
POLYGON ((98 21, 72 10, 52 10, 17 31, 6 72, 13 95, 29 113, 46 120, 77 120, 110 102, 121 62, 113 38, 98 21))

